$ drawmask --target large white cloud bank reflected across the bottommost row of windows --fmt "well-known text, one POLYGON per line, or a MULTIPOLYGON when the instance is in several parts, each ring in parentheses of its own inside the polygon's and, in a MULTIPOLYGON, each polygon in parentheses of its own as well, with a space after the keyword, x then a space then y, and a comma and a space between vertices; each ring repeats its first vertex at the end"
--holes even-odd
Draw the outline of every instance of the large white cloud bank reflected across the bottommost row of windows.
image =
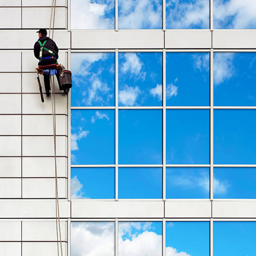
MULTIPOLYGON (((118 225, 118 251, 122 256, 161 256, 162 236, 152 229, 151 222, 122 223, 118 225), (131 228, 139 231, 131 234, 131 239, 122 235, 129 233, 131 228)), ((73 222, 71 228, 71 254, 73 256, 114 256, 114 224, 109 222, 73 222)), ((186 252, 177 252, 175 248, 166 247, 166 256, 189 256, 186 252)))

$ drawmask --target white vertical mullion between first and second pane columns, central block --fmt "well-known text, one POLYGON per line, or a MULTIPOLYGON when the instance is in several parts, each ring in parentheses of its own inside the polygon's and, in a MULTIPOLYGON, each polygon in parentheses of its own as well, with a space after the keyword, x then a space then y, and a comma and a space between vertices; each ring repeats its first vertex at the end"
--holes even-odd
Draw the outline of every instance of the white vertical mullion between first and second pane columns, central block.
POLYGON ((115 50, 115 71, 115 199, 118 201, 118 49, 115 50))

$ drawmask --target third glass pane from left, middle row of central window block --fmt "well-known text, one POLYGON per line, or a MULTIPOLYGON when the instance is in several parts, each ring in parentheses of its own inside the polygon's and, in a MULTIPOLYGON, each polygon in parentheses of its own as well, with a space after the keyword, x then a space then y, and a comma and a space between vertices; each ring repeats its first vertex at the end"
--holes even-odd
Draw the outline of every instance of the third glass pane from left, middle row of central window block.
POLYGON ((166 110, 166 164, 209 164, 210 111, 166 110))

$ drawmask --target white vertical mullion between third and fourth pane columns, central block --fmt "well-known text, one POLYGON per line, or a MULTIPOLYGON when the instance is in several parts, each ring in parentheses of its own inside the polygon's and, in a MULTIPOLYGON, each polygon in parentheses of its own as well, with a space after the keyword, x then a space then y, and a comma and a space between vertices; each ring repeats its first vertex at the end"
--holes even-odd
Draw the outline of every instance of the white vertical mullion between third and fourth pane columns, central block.
POLYGON ((210 199, 213 199, 213 49, 210 52, 210 199))

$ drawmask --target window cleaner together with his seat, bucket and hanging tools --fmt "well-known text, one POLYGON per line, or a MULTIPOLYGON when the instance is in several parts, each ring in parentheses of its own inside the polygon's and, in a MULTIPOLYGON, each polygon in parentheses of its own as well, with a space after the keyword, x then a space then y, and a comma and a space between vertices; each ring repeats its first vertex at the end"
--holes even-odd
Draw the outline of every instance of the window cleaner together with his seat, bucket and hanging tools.
MULTIPOLYGON (((68 93, 72 87, 71 72, 65 70, 63 65, 58 64, 59 49, 56 43, 49 37, 47 37, 47 30, 40 28, 38 31, 38 41, 34 45, 34 55, 39 60, 38 68, 36 68, 38 74, 44 76, 44 87, 47 96, 50 95, 50 76, 56 75, 60 90, 64 93, 68 93)), ((44 102, 42 86, 37 78, 39 84, 39 90, 41 93, 41 100, 44 102)))

